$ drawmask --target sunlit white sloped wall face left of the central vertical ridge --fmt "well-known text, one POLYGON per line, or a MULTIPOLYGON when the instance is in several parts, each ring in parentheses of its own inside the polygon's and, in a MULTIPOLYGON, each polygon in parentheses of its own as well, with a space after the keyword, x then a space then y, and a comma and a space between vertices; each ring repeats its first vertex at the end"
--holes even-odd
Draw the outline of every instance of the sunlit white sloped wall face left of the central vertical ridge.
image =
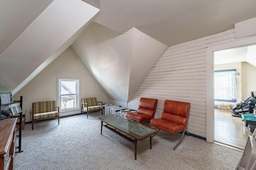
POLYGON ((128 96, 132 37, 92 23, 72 48, 110 100, 128 96))

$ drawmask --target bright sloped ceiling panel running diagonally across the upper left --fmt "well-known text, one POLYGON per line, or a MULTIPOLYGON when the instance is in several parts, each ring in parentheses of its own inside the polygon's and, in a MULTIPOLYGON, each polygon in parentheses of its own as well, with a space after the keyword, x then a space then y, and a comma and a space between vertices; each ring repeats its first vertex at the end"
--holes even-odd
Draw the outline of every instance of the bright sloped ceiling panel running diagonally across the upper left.
POLYGON ((35 70, 39 73, 38 68, 98 12, 80 0, 53 1, 1 53, 0 92, 14 90, 35 70))

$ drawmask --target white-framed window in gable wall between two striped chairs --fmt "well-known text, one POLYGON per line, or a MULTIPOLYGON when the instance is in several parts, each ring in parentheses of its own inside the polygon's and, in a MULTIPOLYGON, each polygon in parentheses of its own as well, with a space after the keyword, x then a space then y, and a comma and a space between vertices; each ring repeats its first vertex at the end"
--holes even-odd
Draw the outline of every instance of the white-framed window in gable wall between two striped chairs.
POLYGON ((78 79, 58 78, 58 106, 60 111, 78 109, 78 79))

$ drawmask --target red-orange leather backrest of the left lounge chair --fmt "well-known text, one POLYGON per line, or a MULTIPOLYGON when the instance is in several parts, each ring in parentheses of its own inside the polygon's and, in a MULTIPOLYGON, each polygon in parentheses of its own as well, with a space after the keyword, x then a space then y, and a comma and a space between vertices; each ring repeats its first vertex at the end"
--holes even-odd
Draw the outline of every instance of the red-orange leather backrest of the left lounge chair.
POLYGON ((154 118, 156 113, 157 99, 151 98, 140 98, 139 108, 137 112, 142 113, 144 115, 149 115, 154 118))

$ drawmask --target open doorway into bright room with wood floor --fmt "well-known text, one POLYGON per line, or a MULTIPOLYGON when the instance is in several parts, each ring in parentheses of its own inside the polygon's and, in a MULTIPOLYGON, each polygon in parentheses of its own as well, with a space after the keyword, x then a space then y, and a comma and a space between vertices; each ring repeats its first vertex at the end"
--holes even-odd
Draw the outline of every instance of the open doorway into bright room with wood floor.
POLYGON ((255 90, 251 82, 256 80, 248 80, 247 74, 251 74, 248 70, 256 72, 256 45, 214 52, 214 142, 238 150, 245 148, 248 135, 252 132, 243 124, 241 117, 219 110, 218 104, 232 107, 250 97, 251 91, 255 90))

